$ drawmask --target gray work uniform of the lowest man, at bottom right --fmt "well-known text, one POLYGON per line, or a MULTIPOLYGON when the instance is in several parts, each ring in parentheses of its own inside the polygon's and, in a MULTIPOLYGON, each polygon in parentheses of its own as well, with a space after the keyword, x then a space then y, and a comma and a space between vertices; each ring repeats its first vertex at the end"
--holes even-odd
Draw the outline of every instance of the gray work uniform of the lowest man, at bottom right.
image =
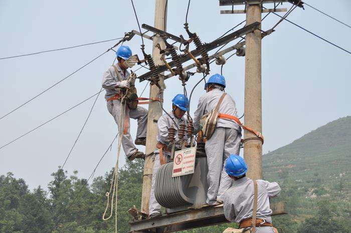
MULTIPOLYGON (((280 193, 277 182, 257 180, 257 217, 272 223, 272 209, 269 198, 280 193)), ((234 181, 234 185, 225 191, 223 195, 224 215, 228 221, 240 223, 242 220, 251 218, 254 206, 253 180, 243 177, 234 181)), ((256 227, 257 233, 274 232, 271 226, 256 227)))

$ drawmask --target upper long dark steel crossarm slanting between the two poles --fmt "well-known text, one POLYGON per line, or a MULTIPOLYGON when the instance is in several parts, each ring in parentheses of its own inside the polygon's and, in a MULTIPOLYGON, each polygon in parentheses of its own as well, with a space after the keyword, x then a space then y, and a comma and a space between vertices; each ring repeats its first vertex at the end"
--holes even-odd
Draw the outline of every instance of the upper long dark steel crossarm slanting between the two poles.
MULTIPOLYGON (((255 23, 250 24, 248 26, 245 26, 244 28, 239 29, 238 31, 235 31, 235 32, 233 32, 233 33, 231 33, 231 34, 229 34, 229 35, 227 35, 225 37, 222 37, 222 38, 220 38, 220 39, 218 39, 216 41, 213 41, 213 42, 211 42, 209 44, 205 44, 204 47, 205 47, 206 51, 211 51, 213 49, 216 49, 216 48, 226 44, 227 42, 230 42, 230 41, 235 40, 235 39, 237 39, 237 38, 239 38, 241 36, 244 36, 244 35, 246 35, 248 33, 251 33, 253 31, 255 31, 256 29, 259 28, 259 26, 260 26, 260 23, 255 22, 255 23)), ((191 51, 191 53, 195 57, 201 55, 201 51, 199 49, 193 50, 193 51, 191 51)), ((191 58, 191 56, 189 54, 183 54, 183 55, 180 56, 180 62, 181 63, 187 62, 187 61, 189 61, 191 59, 192 58, 191 58)), ((170 63, 168 63, 168 65, 171 68, 175 67, 175 63, 174 62, 170 62, 170 63)), ((162 73, 162 72, 164 72, 166 70, 167 70, 167 67, 165 65, 163 65, 163 66, 157 67, 155 72, 160 74, 160 73, 162 73)), ((147 72, 147 73, 139 76, 138 78, 139 78, 139 81, 142 82, 144 80, 148 80, 150 77, 152 77, 152 72, 147 72)))

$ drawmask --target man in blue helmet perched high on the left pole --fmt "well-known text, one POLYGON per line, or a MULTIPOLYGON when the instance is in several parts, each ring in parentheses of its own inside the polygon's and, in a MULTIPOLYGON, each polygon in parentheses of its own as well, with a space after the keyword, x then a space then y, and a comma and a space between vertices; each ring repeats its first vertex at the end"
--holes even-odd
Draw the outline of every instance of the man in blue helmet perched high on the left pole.
MULTIPOLYGON (((118 63, 108 68, 102 78, 102 87, 105 88, 105 99, 107 101, 107 109, 113 116, 117 126, 119 127, 121 116, 121 89, 128 89, 134 86, 129 80, 130 73, 127 71, 128 66, 124 63, 132 56, 132 51, 128 46, 121 46, 116 52, 118 63)), ((135 109, 126 107, 124 129, 118 129, 119 133, 123 133, 122 146, 124 153, 129 160, 135 158, 143 158, 143 152, 138 151, 135 147, 129 132, 130 119, 136 119, 138 128, 136 132, 136 145, 145 145, 146 128, 147 128, 147 110, 137 106, 135 109), (127 124, 126 124, 127 123, 127 124)))

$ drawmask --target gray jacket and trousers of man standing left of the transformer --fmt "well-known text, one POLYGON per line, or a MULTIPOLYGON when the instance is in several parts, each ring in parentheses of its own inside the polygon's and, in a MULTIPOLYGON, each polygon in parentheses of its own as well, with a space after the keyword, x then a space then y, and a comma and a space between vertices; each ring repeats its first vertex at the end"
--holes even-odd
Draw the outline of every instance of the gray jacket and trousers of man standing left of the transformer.
MULTIPOLYGON (((185 117, 182 117, 182 119, 178 119, 177 117, 174 116, 173 112, 169 112, 168 114, 177 123, 178 127, 182 123, 187 124, 185 117)), ((175 129, 175 136, 174 136, 175 141, 178 140, 178 128, 174 126, 174 122, 169 118, 169 116, 167 114, 163 114, 157 121, 157 126, 158 126, 157 141, 167 146, 169 145, 168 128, 171 125, 175 129)), ((170 152, 163 150, 162 153, 164 156, 166 156, 166 162, 168 162, 170 159, 170 152)), ((156 173, 160 166, 161 164, 159 161, 159 149, 155 149, 154 164, 153 164, 153 170, 152 170, 152 180, 151 180, 151 193, 150 193, 150 200, 149 200, 149 214, 161 212, 161 205, 158 204, 155 198, 156 173)))

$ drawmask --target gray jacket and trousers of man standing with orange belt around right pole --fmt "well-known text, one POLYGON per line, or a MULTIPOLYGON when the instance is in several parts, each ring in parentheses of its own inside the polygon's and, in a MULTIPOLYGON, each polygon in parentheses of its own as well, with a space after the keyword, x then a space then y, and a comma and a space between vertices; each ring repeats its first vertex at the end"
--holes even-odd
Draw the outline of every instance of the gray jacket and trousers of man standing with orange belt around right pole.
MULTIPOLYGON (((216 108, 223 93, 223 91, 216 88, 200 97, 198 109, 194 114, 195 132, 201 130, 200 118, 216 108)), ((224 97, 219 107, 219 113, 237 116, 235 101, 229 94, 224 97)), ((207 174, 207 182, 209 184, 207 192, 208 204, 212 205, 217 200, 222 200, 222 194, 231 186, 232 180, 224 170, 224 165, 229 155, 239 155, 240 143, 241 128, 239 125, 233 120, 219 118, 213 135, 205 144, 209 167, 207 174)))

